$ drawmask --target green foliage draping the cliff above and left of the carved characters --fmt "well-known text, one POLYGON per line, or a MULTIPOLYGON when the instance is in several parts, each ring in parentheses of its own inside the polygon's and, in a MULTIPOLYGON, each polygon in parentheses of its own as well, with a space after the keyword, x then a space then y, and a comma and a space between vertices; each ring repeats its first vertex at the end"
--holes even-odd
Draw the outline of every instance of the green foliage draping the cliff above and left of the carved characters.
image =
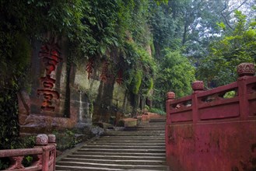
POLYGON ((16 93, 26 86, 24 78, 30 66, 30 43, 33 40, 44 42, 48 41, 47 39, 64 37, 70 45, 71 55, 68 58, 72 62, 83 58, 102 58, 117 49, 121 58, 124 58, 124 68, 128 68, 128 78, 132 78, 138 68, 146 70, 145 75, 137 75, 138 80, 134 85, 128 86, 134 86, 137 93, 141 93, 142 89, 143 93, 152 89, 150 78, 153 77, 154 62, 144 50, 152 41, 147 25, 148 9, 148 0, 1 1, 2 147, 12 148, 10 142, 19 136, 16 93), (127 49, 126 42, 129 39, 135 42, 132 53, 127 49))

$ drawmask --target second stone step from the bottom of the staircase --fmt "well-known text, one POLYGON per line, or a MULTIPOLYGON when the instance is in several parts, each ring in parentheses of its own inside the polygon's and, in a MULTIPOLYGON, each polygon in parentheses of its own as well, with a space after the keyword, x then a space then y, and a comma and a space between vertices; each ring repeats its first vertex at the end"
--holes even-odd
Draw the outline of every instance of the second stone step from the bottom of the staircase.
POLYGON ((93 162, 101 164, 117 164, 117 165, 166 165, 165 160, 146 160, 146 159, 75 159, 63 158, 63 162, 93 162))

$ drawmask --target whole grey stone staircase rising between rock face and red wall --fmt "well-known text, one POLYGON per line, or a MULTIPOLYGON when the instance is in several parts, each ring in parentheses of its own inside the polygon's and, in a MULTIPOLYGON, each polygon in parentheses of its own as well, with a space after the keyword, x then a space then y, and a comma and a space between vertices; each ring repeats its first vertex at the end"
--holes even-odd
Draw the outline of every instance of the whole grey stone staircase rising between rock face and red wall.
POLYGON ((166 165, 165 119, 107 131, 57 159, 56 170, 169 170, 166 165))

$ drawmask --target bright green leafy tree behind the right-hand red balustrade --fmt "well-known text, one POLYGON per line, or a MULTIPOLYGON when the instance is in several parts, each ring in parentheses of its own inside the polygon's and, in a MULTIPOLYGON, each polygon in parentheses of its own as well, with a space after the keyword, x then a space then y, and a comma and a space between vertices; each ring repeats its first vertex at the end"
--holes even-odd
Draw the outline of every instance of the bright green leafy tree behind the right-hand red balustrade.
POLYGON ((246 16, 236 11, 234 29, 224 32, 221 40, 212 42, 209 55, 198 68, 198 78, 207 86, 223 86, 237 79, 237 65, 256 62, 256 30, 246 24, 246 16))

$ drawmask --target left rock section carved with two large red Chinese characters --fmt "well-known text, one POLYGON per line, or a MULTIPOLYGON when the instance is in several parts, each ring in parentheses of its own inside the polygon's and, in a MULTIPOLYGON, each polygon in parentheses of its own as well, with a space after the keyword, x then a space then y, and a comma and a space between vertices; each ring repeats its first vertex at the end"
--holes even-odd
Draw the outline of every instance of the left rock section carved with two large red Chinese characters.
POLYGON ((65 41, 33 44, 31 71, 28 75, 30 92, 23 91, 18 95, 20 134, 47 133, 75 126, 77 105, 67 99, 70 91, 66 82, 70 69, 67 53, 63 49, 65 41), (67 107, 67 103, 70 107, 67 107), (67 108, 70 111, 65 113, 67 108))

